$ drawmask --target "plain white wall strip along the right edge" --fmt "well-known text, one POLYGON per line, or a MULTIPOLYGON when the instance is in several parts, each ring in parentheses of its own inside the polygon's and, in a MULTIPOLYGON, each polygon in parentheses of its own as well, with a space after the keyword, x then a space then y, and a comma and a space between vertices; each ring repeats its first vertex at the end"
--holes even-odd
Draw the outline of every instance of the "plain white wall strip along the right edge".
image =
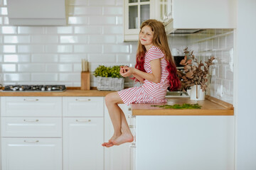
POLYGON ((238 0, 235 58, 237 170, 256 169, 255 8, 255 0, 238 0))

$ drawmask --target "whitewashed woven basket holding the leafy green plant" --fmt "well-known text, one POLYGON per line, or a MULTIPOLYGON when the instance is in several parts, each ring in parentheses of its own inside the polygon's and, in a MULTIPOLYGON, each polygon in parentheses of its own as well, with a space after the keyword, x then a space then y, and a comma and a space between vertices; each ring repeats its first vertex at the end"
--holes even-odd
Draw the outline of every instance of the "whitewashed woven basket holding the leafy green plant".
POLYGON ((124 89, 124 78, 97 77, 97 89, 119 91, 124 89))

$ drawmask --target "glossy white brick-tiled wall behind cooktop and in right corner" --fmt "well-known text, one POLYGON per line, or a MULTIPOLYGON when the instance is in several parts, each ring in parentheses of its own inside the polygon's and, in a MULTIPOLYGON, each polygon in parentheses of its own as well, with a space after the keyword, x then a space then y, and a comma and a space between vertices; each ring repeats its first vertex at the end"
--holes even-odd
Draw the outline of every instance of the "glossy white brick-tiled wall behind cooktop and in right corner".
MULTIPOLYGON (((80 86, 81 60, 90 72, 99 64, 134 66, 137 42, 123 42, 123 0, 68 0, 67 26, 10 26, 6 4, 0 0, 0 82, 7 84, 65 84, 80 86)), ((233 102, 233 33, 215 30, 215 38, 170 36, 170 48, 190 44, 199 57, 215 55, 210 95, 233 102), (223 34, 223 35, 222 35, 223 34), (190 43, 188 43, 188 40, 190 43), (223 96, 218 89, 223 85, 223 96)), ((132 86, 125 79, 127 86, 132 86)), ((96 86, 91 77, 91 85, 96 86)))

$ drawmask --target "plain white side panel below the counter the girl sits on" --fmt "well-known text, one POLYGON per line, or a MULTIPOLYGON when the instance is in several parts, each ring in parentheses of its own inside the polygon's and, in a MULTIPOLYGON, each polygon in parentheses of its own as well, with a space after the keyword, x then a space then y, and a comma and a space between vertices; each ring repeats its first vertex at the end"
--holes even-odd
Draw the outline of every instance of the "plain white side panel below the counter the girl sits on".
POLYGON ((234 170, 234 116, 136 116, 136 170, 234 170))

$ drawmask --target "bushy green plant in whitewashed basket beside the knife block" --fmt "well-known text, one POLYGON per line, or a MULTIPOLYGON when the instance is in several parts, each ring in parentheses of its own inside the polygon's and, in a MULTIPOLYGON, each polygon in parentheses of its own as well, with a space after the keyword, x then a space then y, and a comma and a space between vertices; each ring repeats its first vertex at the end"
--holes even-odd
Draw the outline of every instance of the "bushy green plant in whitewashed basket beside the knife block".
POLYGON ((95 69, 93 75, 97 77, 98 90, 119 91, 124 89, 124 77, 119 73, 120 67, 105 67, 100 65, 95 69))

